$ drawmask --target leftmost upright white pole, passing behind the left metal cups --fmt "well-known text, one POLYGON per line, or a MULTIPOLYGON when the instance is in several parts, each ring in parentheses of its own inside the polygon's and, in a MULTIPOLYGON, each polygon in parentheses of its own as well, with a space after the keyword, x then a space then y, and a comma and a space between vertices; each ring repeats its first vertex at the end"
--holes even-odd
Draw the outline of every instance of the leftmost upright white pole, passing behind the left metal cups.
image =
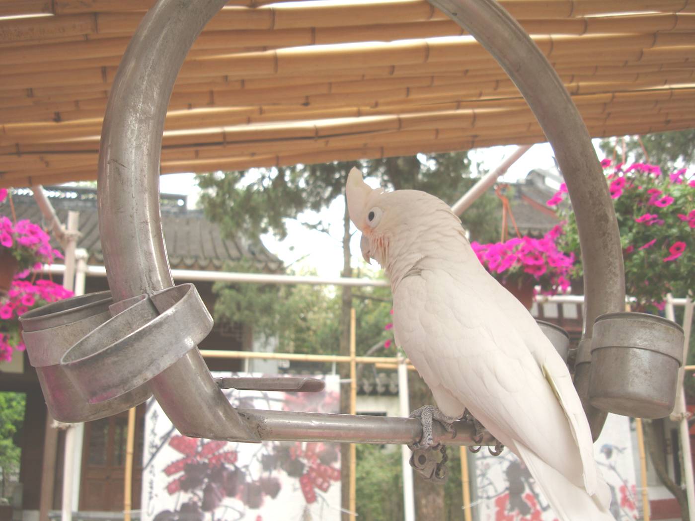
MULTIPOLYGON (((65 273, 63 288, 75 288, 75 247, 79 230, 79 212, 67 213, 67 245, 65 246, 65 273)), ((86 264, 86 263, 85 263, 86 264)), ((84 290, 84 288, 83 288, 84 290)), ((72 496, 75 463, 75 426, 65 429, 65 453, 63 456, 63 508, 60 513, 61 521, 72 521, 72 496)))

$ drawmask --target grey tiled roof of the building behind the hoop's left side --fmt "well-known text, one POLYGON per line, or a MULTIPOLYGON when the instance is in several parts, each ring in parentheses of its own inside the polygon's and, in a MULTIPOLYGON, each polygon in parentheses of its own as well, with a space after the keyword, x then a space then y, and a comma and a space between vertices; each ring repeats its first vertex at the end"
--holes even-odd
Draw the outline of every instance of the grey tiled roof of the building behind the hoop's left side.
MULTIPOLYGON (((81 187, 44 187, 44 190, 63 224, 67 222, 69 210, 79 211, 81 236, 77 247, 89 252, 90 264, 103 264, 96 190, 81 187)), ((17 220, 44 222, 29 190, 17 190, 13 194, 13 204, 17 220)), ((277 272, 282 268, 279 258, 265 249, 261 240, 225 238, 220 226, 208 221, 202 210, 187 210, 185 195, 161 195, 161 213, 167 254, 172 268, 221 270, 224 263, 243 259, 254 261, 263 271, 277 272)), ((10 214, 7 203, 0 206, 0 214, 10 214)), ((54 247, 57 245, 54 244, 54 247)))

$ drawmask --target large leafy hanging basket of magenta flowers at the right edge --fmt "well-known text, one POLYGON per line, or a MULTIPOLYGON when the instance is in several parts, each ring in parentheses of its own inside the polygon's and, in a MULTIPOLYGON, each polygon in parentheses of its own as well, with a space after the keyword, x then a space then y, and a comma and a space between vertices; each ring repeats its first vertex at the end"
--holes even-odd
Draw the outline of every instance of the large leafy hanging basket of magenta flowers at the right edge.
MULTIPOLYGON (((685 296, 695 287, 695 176, 685 168, 666 174, 657 165, 613 165, 601 161, 615 207, 623 249, 626 293, 635 297, 632 311, 662 311, 666 295, 685 296)), ((547 201, 555 207, 566 188, 547 201)), ((571 208, 559 215, 566 220, 559 248, 579 253, 579 233, 571 208)), ((575 263, 571 279, 581 279, 575 263)))

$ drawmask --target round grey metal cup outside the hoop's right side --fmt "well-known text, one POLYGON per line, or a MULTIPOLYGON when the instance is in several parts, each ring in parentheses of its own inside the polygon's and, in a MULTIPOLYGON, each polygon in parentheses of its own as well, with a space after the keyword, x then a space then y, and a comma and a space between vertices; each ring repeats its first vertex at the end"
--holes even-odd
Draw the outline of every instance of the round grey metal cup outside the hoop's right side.
POLYGON ((625 416, 668 416, 676 403, 682 328, 644 313, 607 313, 591 339, 591 405, 625 416))

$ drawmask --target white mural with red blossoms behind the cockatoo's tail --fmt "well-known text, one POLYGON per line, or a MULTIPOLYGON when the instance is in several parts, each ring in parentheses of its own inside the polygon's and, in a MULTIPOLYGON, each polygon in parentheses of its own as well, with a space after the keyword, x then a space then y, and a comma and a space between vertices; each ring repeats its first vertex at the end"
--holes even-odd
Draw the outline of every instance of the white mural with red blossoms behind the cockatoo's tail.
MULTIPOLYGON (((641 515, 632 422, 625 416, 608 415, 594 443, 594 457, 611 490, 611 513, 618 521, 634 521, 641 515)), ((528 469, 507 449, 500 456, 491 456, 485 448, 475 454, 475 481, 473 504, 479 521, 557 521, 528 469)))

